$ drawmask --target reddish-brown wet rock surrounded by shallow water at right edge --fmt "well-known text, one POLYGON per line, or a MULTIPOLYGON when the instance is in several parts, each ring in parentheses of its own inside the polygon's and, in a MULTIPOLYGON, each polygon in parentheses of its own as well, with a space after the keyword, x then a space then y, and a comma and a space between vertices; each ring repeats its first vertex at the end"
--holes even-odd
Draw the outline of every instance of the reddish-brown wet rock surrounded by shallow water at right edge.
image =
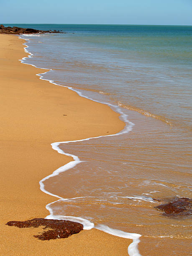
POLYGON ((189 217, 192 215, 192 200, 187 197, 174 197, 166 204, 154 208, 163 211, 163 215, 172 217, 189 217))

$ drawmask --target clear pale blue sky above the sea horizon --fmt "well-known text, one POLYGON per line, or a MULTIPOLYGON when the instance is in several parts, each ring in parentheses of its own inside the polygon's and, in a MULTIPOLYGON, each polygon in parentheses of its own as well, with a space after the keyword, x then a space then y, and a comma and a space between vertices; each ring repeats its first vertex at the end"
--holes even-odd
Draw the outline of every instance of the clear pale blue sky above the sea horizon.
POLYGON ((0 23, 192 25, 192 0, 2 0, 0 23))

